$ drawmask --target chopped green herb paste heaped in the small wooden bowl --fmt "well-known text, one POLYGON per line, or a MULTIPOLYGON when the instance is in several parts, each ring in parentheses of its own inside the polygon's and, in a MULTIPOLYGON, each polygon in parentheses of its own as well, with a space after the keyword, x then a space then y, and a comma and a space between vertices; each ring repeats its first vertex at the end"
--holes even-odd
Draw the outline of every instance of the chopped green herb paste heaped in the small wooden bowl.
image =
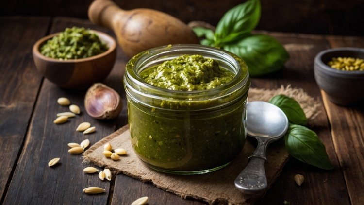
POLYGON ((44 44, 40 53, 58 60, 88 58, 107 51, 108 46, 90 29, 72 27, 44 44))

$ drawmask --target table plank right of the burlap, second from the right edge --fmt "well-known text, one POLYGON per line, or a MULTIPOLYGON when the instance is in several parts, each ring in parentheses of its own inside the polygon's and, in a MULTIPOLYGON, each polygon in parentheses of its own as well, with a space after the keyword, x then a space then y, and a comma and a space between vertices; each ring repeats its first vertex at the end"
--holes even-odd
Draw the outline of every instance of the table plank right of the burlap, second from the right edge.
MULTIPOLYGON (((259 32, 262 33, 262 32, 259 32)), ((252 87, 277 89, 281 85, 303 88, 310 96, 322 101, 320 90, 314 80, 314 56, 328 45, 319 35, 268 33, 276 37, 290 54, 290 60, 281 71, 260 78, 252 78, 252 87)), ((257 204, 281 204, 288 201, 291 204, 341 204, 348 205, 347 188, 335 149, 332 143, 329 123, 323 107, 314 124, 309 128, 314 130, 326 146, 331 162, 335 168, 332 171, 321 170, 291 158, 285 165, 281 175, 273 183, 257 204), (299 187, 294 176, 301 174, 305 182, 299 187)))

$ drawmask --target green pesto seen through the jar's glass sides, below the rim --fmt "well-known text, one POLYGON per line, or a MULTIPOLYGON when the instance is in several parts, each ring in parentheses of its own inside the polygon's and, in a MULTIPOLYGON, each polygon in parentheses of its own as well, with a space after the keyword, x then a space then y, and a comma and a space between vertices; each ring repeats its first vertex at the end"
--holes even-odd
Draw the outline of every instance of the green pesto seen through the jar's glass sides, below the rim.
POLYGON ((163 112, 128 101, 132 146, 154 169, 201 171, 230 163, 246 141, 246 97, 215 112, 163 112))

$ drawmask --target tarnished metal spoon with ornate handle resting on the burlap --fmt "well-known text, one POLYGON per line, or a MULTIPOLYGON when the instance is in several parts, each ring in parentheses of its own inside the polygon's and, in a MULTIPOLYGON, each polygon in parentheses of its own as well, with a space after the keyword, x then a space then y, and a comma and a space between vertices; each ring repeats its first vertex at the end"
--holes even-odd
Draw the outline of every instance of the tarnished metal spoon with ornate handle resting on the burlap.
POLYGON ((265 191, 268 186, 264 170, 266 148, 271 142, 284 137, 288 119, 279 107, 268 102, 249 102, 247 110, 247 134, 258 140, 258 146, 248 158, 248 166, 235 179, 235 187, 243 193, 256 194, 265 191))

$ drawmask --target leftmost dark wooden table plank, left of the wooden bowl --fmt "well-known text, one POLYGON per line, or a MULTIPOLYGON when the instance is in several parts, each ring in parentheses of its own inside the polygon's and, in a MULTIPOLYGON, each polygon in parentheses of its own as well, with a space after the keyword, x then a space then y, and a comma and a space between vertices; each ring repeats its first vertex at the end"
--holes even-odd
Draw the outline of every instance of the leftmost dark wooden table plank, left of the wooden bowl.
POLYGON ((10 182, 28 128, 42 76, 32 47, 50 17, 0 17, 0 198, 10 182))

